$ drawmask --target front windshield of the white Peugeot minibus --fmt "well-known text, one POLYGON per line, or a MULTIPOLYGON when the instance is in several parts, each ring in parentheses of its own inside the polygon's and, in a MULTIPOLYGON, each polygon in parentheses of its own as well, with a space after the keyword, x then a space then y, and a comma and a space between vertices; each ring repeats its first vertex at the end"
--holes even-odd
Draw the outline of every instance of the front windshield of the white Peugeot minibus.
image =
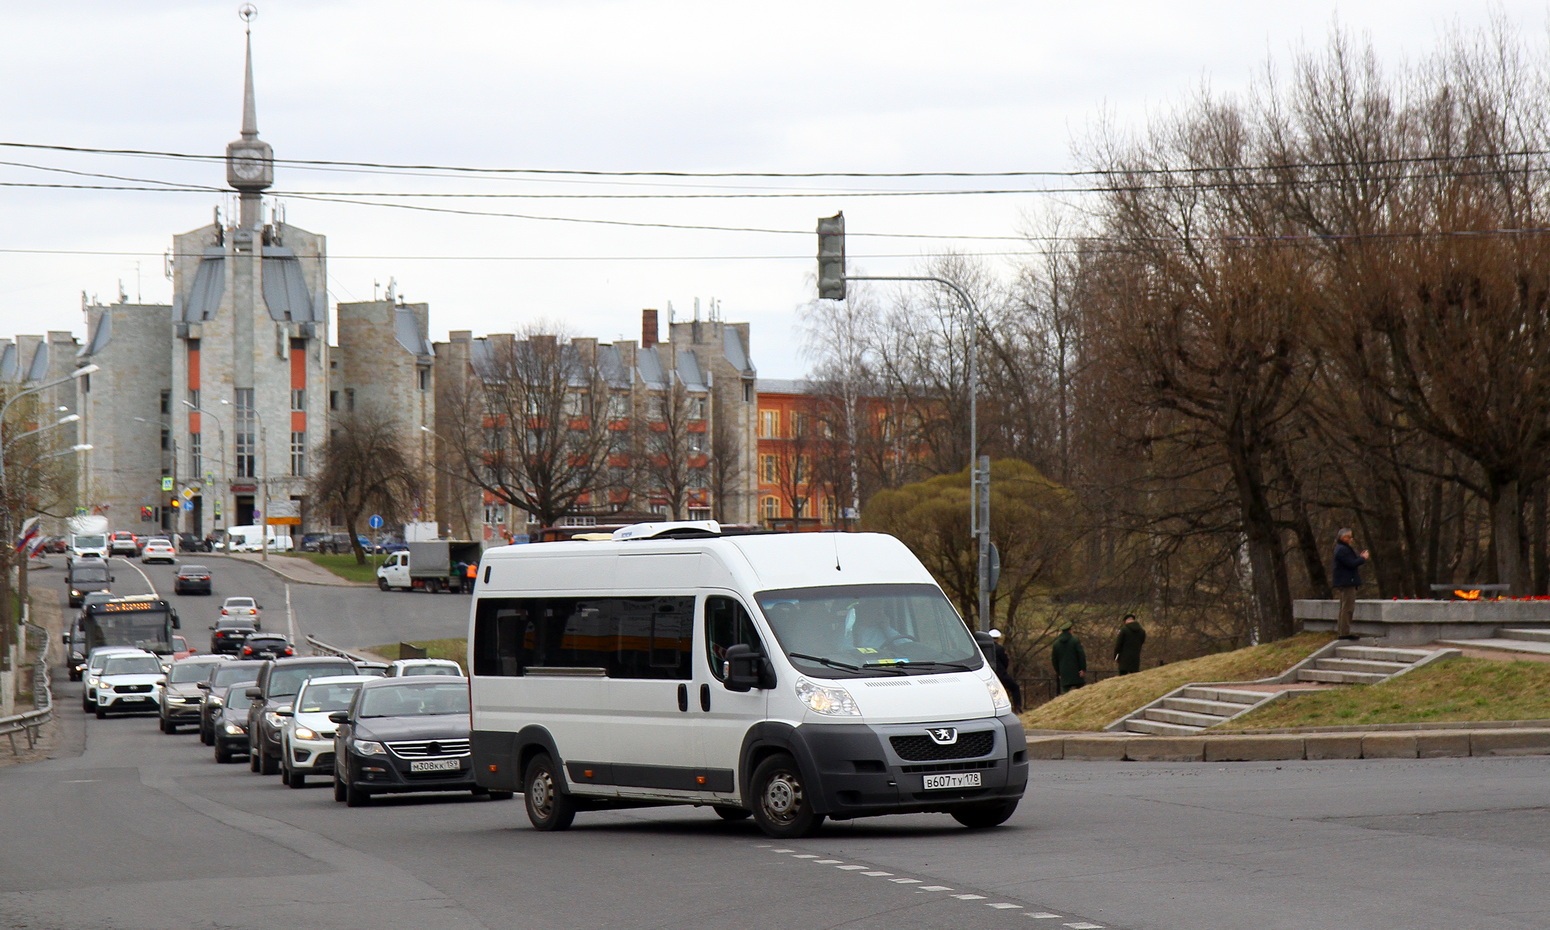
POLYGON ((932 584, 761 591, 792 665, 815 677, 938 674, 984 663, 969 628, 932 584))

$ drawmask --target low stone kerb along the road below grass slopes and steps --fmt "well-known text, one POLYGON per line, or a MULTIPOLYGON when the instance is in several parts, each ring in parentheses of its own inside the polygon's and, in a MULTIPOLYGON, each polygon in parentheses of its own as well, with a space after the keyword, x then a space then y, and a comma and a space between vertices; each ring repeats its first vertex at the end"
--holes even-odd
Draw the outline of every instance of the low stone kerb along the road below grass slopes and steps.
POLYGON ((1316 727, 1211 736, 1028 735, 1029 760, 1079 763, 1271 763, 1550 755, 1550 721, 1316 727))

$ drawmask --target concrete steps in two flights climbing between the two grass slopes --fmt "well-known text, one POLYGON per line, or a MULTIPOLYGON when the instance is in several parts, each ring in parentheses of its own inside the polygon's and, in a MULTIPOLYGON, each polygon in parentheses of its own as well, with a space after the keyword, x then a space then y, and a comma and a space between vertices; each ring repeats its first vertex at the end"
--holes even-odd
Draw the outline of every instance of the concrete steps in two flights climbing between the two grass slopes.
MULTIPOLYGON (((1550 651, 1550 639, 1544 640, 1550 651)), ((1259 682, 1184 685, 1114 721, 1107 732, 1194 736, 1291 691, 1330 685, 1372 685, 1457 649, 1397 649, 1333 642, 1286 673, 1259 682), (1252 687, 1246 687, 1252 685, 1252 687)))

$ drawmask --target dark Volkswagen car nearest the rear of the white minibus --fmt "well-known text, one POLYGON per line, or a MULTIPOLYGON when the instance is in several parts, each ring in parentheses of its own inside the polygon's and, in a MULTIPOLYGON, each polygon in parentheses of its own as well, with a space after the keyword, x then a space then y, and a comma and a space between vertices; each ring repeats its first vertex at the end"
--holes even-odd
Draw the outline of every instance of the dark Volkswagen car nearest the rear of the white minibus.
POLYGON ((333 800, 350 808, 374 794, 470 790, 496 800, 512 792, 474 784, 468 755, 468 679, 391 677, 366 682, 350 710, 329 715, 333 800))

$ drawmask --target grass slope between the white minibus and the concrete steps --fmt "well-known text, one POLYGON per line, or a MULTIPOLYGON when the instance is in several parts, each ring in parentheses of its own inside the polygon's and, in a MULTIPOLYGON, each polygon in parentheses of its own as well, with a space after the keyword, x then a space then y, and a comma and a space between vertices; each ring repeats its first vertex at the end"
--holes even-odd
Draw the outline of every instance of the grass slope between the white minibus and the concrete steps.
POLYGON ((1029 730, 1102 730, 1138 707, 1190 682, 1251 682, 1280 674, 1330 639, 1322 632, 1304 632, 1263 646, 1201 656, 1105 679, 1035 707, 1023 715, 1023 725, 1029 730))

